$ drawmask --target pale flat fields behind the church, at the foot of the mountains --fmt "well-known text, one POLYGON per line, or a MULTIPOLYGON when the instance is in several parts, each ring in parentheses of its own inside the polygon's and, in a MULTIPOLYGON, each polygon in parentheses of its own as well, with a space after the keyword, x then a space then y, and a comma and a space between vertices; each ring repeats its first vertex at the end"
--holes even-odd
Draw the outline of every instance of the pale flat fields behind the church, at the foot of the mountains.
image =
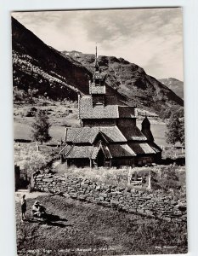
MULTIPOLYGON (((37 107, 37 106, 36 106, 37 107)), ((51 123, 50 135, 53 137, 51 143, 57 143, 64 137, 65 125, 67 126, 79 126, 79 120, 77 119, 76 103, 67 103, 60 105, 59 102, 54 102, 52 105, 40 106, 39 108, 45 109, 48 113, 48 118, 51 123)), ((18 140, 30 140, 31 139, 31 124, 34 121, 33 117, 27 117, 26 114, 31 106, 15 106, 14 107, 14 139, 18 140)), ((143 117, 140 116, 137 125, 141 129, 141 122, 143 117)), ((151 131, 158 145, 166 146, 165 132, 167 131, 165 123, 160 119, 151 118, 151 131)))

